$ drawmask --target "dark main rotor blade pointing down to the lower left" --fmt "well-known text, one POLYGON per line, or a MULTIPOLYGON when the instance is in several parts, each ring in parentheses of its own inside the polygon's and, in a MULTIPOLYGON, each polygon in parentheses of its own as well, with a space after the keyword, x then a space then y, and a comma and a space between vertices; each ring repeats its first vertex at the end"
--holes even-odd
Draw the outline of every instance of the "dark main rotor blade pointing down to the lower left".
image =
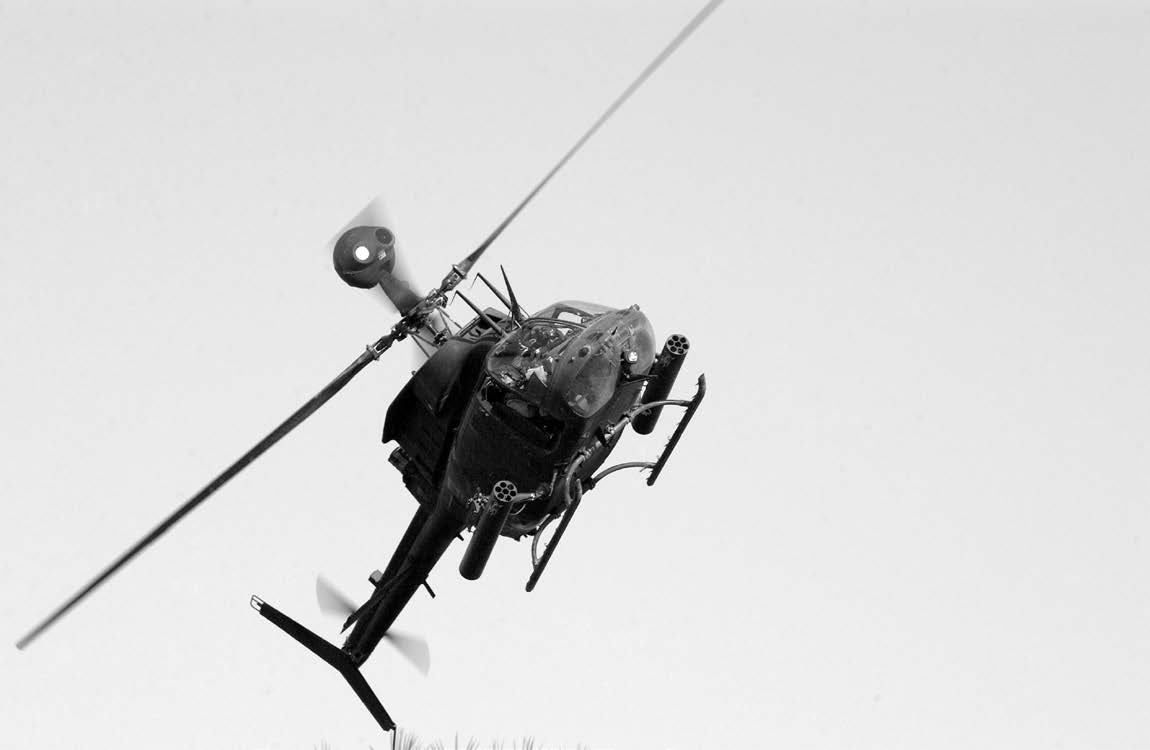
POLYGON ((246 467, 248 464, 259 458, 264 451, 267 451, 269 447, 278 443, 279 439, 283 438, 288 433, 296 429, 304 420, 314 414, 315 411, 319 410, 324 404, 327 404, 332 396, 343 390, 343 388, 347 385, 347 383, 350 383, 351 380, 355 377, 361 369, 363 369, 369 363, 378 359, 379 354, 386 351, 391 346, 393 339, 394 335, 388 334, 386 336, 377 340, 375 344, 369 346, 367 351, 360 354, 354 362, 348 365, 347 368, 336 377, 336 380, 328 383, 323 388, 323 390, 313 396, 306 404, 296 410, 291 414, 291 416, 285 419, 283 422, 279 423, 278 427, 268 433, 268 435, 262 441, 256 443, 250 451, 240 456, 235 464, 232 464, 223 472, 221 472, 221 474, 210 482, 208 482, 208 484, 202 490, 197 492, 194 496, 192 496, 191 499, 189 499, 186 503, 176 508, 176 511, 171 513, 168 518, 163 519, 163 521, 161 521, 159 526, 148 531, 144 536, 144 538, 141 538, 139 542, 129 548, 126 552, 116 558, 112 562, 112 565, 109 565, 107 568, 103 569, 103 572, 101 572, 94 579, 89 581, 89 583, 79 591, 77 591, 70 599, 64 602, 52 614, 45 618, 39 625, 29 630, 24 637, 22 637, 20 641, 16 642, 16 648, 17 649, 26 648, 28 644, 30 644, 32 641, 39 637, 41 633, 52 627, 52 625, 55 623, 56 620, 62 618, 64 614, 68 613, 69 610, 79 604, 84 599, 84 597, 86 597, 89 594, 94 591, 97 587, 99 587, 101 583, 112 577, 112 575, 115 574, 116 571, 122 568, 132 558, 143 552, 150 544, 152 544, 158 538, 163 536, 163 534, 168 529, 175 526, 182 518, 184 518, 193 510, 195 510, 195 507, 200 503, 212 497, 212 495, 215 493, 215 491, 218 490, 221 487, 223 487, 228 482, 228 480, 239 474, 244 469, 244 467, 246 467))

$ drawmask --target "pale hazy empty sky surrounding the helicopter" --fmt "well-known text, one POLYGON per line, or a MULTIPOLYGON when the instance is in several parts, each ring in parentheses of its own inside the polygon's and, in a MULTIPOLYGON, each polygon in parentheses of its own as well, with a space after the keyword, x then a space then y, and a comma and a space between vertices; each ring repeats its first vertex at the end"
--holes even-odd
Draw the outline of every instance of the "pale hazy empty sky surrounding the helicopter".
MULTIPOLYGON (((407 351, 10 644, 391 326, 320 251, 354 212, 436 283, 699 6, 0 5, 0 744, 385 745, 247 599, 336 637, 315 574, 366 596, 407 351)), ((1150 745, 1148 70, 1147 3, 721 7, 481 267, 638 303, 711 393, 535 594, 526 543, 452 548, 430 678, 366 669, 398 720, 1150 745)))

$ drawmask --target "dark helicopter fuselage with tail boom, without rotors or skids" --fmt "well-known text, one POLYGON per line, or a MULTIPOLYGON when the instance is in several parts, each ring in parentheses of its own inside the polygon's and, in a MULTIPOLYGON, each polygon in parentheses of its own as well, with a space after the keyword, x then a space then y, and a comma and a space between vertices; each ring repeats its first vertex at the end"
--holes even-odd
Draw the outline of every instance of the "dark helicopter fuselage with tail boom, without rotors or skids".
POLYGON ((558 479, 592 450, 577 479, 614 447, 601 428, 639 398, 654 334, 637 306, 557 303, 522 322, 485 311, 442 344, 388 410, 391 462, 419 502, 344 649, 362 661, 499 481, 531 493, 504 536, 535 534, 565 503, 558 479), (494 323, 494 327, 491 326, 494 323))

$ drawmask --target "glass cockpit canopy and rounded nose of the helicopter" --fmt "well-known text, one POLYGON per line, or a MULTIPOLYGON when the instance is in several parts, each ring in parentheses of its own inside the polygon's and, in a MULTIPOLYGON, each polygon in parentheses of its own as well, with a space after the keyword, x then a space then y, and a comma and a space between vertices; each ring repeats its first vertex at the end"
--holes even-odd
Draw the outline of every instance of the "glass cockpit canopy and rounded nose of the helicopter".
POLYGON ((630 372, 641 375, 654 354, 654 331, 637 306, 561 301, 496 344, 486 369, 524 415, 588 418, 611 400, 624 359, 634 359, 630 372))

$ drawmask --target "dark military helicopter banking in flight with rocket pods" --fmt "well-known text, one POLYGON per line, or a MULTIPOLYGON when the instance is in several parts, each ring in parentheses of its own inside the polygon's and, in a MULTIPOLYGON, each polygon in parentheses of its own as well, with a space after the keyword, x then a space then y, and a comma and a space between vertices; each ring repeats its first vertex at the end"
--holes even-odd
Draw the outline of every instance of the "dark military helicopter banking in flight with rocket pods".
POLYGON ((599 116, 527 197, 478 247, 453 265, 425 294, 397 269, 396 235, 377 204, 350 223, 331 244, 336 273, 347 284, 382 291, 399 312, 391 330, 369 344, 331 383, 304 404, 204 489, 57 607, 17 642, 23 649, 76 604, 155 542, 231 477, 342 390, 397 343, 411 338, 427 355, 388 408, 383 442, 396 443, 389 460, 417 502, 406 531, 383 571, 369 580, 371 595, 359 605, 317 581, 321 606, 343 611, 350 629, 342 648, 253 596, 263 618, 335 667, 385 730, 388 711, 360 673, 378 643, 451 543, 470 530, 460 574, 478 579, 500 537, 531 538, 531 591, 578 510, 583 495, 627 468, 650 472, 654 484, 706 391, 700 375, 693 396, 668 395, 688 352, 684 336, 658 349, 651 322, 637 305, 614 308, 559 301, 528 314, 503 273, 504 291, 482 281, 504 309, 480 308, 458 291, 496 238, 555 173, 718 7, 708 2, 599 116), (458 297, 474 313, 457 323, 458 297), (605 467, 628 426, 650 434, 665 407, 684 410, 653 461, 605 467), (544 533, 553 526, 547 542, 544 533), (540 549, 542 546, 542 549, 540 549))

